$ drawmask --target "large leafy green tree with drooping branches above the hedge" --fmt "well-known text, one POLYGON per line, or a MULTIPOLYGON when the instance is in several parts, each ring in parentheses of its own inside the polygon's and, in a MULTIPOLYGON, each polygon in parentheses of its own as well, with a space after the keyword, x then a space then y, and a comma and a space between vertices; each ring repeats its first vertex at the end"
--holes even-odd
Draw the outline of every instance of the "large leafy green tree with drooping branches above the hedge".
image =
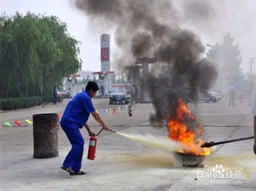
POLYGON ((56 16, 0 16, 0 98, 43 96, 81 68, 79 42, 56 16))

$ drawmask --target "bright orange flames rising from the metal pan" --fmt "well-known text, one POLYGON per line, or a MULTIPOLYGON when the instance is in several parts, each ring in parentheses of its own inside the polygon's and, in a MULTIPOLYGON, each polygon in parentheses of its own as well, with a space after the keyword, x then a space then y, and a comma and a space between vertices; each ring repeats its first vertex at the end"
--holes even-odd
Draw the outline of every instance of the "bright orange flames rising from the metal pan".
POLYGON ((176 115, 170 118, 167 124, 169 128, 169 138, 185 146, 185 149, 179 150, 181 153, 194 156, 210 155, 212 149, 200 147, 200 145, 204 143, 202 139, 198 138, 202 135, 203 125, 199 124, 198 131, 190 130, 187 124, 184 123, 184 117, 187 116, 191 121, 194 121, 194 115, 191 111, 187 110, 187 106, 182 99, 178 101, 179 107, 176 110, 176 115))

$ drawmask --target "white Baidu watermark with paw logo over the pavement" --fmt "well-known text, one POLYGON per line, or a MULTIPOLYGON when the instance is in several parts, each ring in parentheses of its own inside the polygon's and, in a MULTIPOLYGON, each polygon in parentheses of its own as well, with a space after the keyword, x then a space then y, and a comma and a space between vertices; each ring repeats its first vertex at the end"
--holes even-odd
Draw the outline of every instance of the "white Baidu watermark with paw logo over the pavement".
POLYGON ((225 169, 222 164, 215 164, 211 171, 197 170, 197 185, 240 184, 241 169, 225 169))

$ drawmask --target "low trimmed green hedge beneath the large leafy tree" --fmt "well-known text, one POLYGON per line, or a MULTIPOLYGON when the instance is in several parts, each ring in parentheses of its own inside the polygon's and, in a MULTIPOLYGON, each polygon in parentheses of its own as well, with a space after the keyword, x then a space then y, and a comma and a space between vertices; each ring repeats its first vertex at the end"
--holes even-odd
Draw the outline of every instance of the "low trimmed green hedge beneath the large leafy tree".
POLYGON ((43 98, 39 96, 23 97, 23 98, 9 98, 0 99, 0 110, 16 110, 21 108, 41 105, 43 98))

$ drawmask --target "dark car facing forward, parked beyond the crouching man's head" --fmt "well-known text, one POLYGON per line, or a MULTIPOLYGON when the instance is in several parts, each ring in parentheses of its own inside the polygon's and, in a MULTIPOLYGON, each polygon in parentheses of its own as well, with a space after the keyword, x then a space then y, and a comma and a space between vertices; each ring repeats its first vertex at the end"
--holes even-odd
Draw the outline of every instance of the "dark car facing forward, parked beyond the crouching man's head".
POLYGON ((109 92, 109 104, 128 104, 130 101, 130 94, 125 88, 113 88, 109 92))

